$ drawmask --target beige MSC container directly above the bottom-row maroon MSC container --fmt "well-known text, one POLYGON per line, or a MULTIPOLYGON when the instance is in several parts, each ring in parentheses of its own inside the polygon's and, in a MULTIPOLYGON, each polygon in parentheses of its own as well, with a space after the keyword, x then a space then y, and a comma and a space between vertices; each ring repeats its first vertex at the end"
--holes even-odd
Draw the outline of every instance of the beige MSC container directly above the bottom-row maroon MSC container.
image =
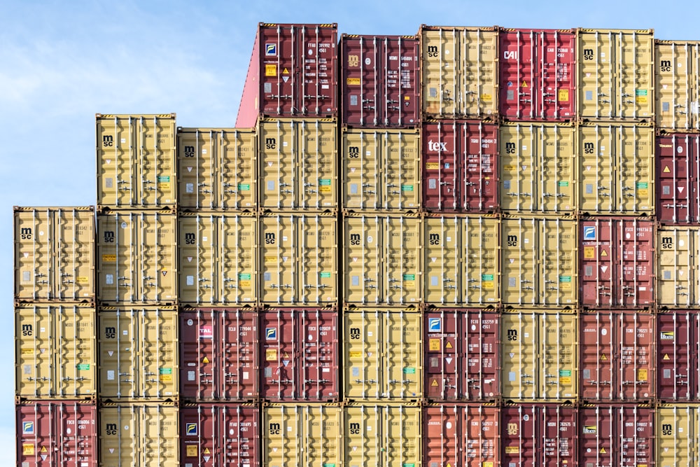
POLYGON ((520 309, 503 313, 500 329, 504 400, 576 400, 578 319, 574 312, 520 309))

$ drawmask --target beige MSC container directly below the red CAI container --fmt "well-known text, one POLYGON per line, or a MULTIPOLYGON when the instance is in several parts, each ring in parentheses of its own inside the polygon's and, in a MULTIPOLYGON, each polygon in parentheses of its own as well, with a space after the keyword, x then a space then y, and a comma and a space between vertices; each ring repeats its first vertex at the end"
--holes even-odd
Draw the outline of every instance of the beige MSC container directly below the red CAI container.
POLYGON ((501 211, 573 214, 575 137, 570 123, 501 123, 501 211))

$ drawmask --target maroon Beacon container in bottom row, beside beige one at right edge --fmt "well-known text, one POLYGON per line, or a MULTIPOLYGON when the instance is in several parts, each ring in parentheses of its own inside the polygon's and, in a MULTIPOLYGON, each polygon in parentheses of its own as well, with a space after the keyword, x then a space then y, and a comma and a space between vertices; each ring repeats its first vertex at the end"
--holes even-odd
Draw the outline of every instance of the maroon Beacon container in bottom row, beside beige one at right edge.
POLYGON ((583 405, 578 416, 580 467, 654 466, 654 411, 647 405, 583 405))

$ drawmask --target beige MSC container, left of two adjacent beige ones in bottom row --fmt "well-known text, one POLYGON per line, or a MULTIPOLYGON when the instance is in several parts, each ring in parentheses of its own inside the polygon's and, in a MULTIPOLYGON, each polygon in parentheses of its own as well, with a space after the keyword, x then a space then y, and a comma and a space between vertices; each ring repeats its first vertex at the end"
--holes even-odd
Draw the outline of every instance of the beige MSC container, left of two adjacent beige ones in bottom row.
POLYGON ((261 466, 342 466, 339 405, 267 403, 262 417, 261 466))

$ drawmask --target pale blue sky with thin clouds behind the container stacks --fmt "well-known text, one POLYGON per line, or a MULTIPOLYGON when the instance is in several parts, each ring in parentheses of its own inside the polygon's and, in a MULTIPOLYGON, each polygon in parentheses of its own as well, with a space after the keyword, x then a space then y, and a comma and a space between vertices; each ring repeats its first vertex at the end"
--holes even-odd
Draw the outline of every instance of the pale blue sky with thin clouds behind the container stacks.
POLYGON ((14 461, 12 207, 95 202, 94 114, 177 113, 235 123, 258 22, 337 22, 340 33, 421 24, 653 28, 698 40, 696 1, 0 0, 0 465, 14 461))

